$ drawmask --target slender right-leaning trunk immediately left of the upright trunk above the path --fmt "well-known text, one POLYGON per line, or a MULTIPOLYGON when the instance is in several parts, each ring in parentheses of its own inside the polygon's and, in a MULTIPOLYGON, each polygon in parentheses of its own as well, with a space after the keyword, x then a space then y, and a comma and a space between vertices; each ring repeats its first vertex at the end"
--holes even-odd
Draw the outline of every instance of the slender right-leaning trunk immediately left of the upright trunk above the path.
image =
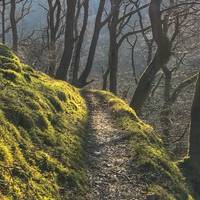
POLYGON ((79 80, 78 80, 78 86, 79 87, 84 87, 85 85, 87 85, 87 79, 88 79, 88 76, 89 76, 89 74, 91 72, 91 69, 92 69, 94 56, 95 56, 95 52, 96 52, 96 47, 97 47, 97 43, 98 43, 98 39, 99 39, 100 30, 104 25, 101 22, 103 11, 104 11, 104 6, 105 6, 105 0, 101 0, 99 2, 99 9, 98 9, 96 20, 95 20, 95 28, 94 28, 94 33, 93 33, 90 49, 89 49, 89 54, 88 54, 86 67, 83 70, 83 72, 80 75, 79 80))

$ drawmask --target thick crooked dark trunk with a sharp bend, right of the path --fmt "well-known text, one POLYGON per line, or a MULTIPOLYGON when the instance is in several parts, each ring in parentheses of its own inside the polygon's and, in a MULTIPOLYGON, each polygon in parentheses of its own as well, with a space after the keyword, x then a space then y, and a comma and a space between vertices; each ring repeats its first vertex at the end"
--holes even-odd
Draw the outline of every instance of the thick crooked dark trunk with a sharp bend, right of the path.
POLYGON ((161 1, 152 0, 149 7, 153 38, 157 43, 158 49, 152 62, 142 74, 130 103, 130 106, 134 108, 138 114, 148 98, 155 75, 162 66, 167 64, 170 58, 171 47, 162 28, 160 6, 161 1))

